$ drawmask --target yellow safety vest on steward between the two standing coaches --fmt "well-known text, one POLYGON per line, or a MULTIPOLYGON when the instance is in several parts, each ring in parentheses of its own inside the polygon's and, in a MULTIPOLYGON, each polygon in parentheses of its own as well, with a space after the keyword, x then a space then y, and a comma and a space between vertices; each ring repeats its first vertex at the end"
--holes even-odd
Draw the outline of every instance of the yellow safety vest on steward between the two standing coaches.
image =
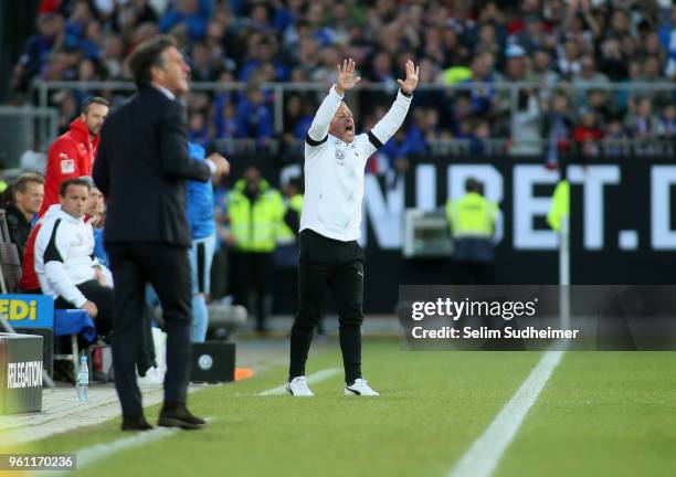
POLYGON ((228 212, 234 247, 241 252, 273 252, 279 218, 284 214, 282 194, 261 180, 258 197, 251 202, 244 194, 246 182, 239 180, 229 194, 228 212))

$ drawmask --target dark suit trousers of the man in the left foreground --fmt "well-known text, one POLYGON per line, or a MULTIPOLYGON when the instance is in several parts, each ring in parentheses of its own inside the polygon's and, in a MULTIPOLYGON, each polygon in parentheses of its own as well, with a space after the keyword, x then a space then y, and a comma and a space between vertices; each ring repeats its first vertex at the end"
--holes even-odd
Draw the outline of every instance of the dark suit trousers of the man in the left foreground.
POLYGON ((167 331, 165 402, 186 403, 190 373, 191 284, 188 247, 161 243, 106 244, 115 279, 113 365, 124 415, 142 413, 136 383, 146 283, 162 307, 167 331))

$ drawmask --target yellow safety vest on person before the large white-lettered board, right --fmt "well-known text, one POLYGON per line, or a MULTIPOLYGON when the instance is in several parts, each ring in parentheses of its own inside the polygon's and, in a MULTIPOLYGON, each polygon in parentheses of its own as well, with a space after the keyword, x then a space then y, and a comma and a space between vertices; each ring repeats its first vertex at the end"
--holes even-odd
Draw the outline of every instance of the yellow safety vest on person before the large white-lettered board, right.
POLYGON ((476 192, 446 202, 446 219, 453 239, 490 239, 496 214, 497 205, 476 192))

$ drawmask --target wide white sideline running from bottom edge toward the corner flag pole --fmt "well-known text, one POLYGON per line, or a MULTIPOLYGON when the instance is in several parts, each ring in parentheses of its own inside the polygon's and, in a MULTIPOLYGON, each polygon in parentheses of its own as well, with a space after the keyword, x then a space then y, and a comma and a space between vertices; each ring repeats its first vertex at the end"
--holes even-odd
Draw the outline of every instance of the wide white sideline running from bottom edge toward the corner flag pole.
POLYGON ((530 406, 547 384, 563 351, 547 351, 484 434, 463 455, 448 477, 488 477, 516 436, 530 406))

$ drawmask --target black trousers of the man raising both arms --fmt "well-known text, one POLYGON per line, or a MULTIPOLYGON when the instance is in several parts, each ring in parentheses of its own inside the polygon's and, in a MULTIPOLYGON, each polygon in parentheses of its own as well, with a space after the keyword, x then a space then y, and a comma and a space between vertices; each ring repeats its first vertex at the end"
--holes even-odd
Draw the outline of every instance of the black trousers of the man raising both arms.
POLYGON ((345 381, 361 378, 363 321, 363 251, 353 242, 327 239, 311 230, 300 232, 298 314, 292 328, 289 379, 305 374, 313 333, 330 289, 339 319, 345 381))

